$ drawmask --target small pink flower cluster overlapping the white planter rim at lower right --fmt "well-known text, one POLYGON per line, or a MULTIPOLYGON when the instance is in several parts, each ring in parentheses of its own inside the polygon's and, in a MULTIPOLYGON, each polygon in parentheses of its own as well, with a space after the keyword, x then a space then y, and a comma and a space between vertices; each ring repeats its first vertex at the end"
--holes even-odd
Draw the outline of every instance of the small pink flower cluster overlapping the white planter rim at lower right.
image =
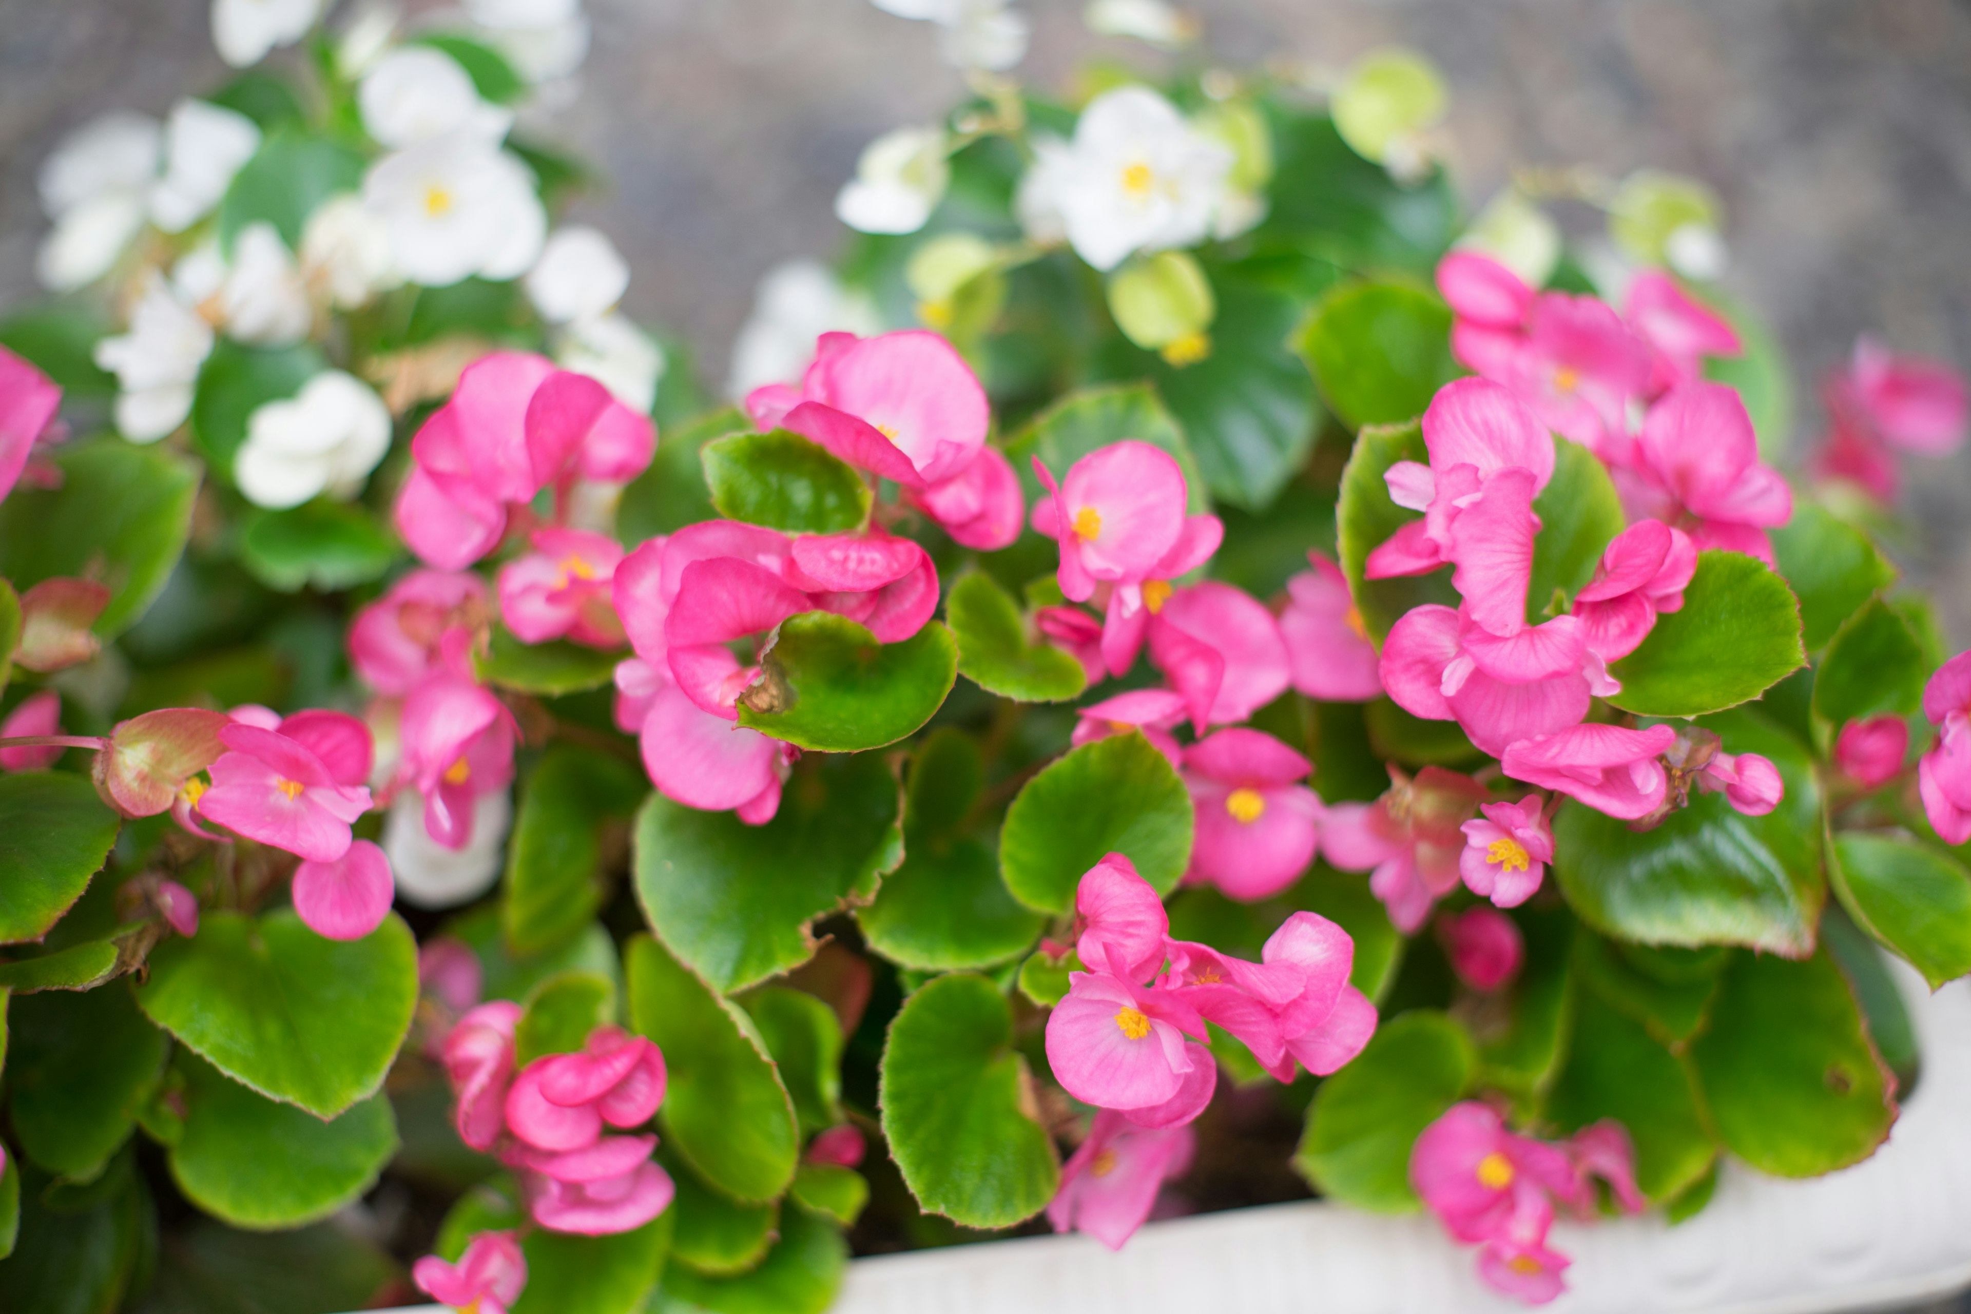
POLYGON ((1506 1131, 1490 1105, 1464 1101, 1417 1137, 1409 1182, 1445 1231, 1478 1245, 1478 1275, 1490 1286, 1545 1304, 1567 1288, 1567 1255, 1547 1245, 1553 1206, 1591 1215, 1600 1178, 1626 1212, 1642 1212, 1634 1162, 1620 1123, 1595 1123, 1549 1145, 1506 1131))

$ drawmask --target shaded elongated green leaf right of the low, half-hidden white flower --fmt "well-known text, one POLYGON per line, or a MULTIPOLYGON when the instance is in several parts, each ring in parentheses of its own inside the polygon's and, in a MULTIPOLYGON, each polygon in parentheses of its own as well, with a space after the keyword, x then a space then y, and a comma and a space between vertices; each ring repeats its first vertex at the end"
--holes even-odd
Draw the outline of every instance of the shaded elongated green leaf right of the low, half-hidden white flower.
POLYGON ((643 772, 591 749, 550 745, 526 776, 507 839, 501 926, 516 953, 581 934, 603 906, 603 829, 637 812, 643 772))

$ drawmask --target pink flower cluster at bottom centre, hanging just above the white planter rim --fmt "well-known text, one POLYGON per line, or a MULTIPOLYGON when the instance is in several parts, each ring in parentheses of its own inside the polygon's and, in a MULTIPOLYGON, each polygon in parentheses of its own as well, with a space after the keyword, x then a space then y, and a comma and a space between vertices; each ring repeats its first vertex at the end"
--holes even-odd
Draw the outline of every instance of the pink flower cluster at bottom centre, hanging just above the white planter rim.
POLYGON ((1074 916, 1086 971, 1068 973, 1047 1018, 1047 1062, 1100 1113, 1049 1217, 1120 1247, 1190 1160, 1189 1125, 1218 1085, 1206 1022, 1291 1082, 1295 1064, 1326 1076, 1360 1054, 1376 1005, 1348 983, 1354 942, 1334 922, 1295 912, 1257 963, 1171 940, 1163 900, 1121 853, 1088 869, 1074 916))

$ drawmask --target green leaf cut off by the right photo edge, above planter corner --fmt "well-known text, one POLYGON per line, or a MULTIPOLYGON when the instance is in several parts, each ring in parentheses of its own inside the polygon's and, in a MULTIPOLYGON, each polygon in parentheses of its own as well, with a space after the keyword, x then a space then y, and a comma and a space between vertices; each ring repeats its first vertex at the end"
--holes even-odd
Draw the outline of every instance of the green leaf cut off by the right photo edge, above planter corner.
POLYGON ((1930 989, 1971 973, 1971 873, 1936 849, 1888 835, 1835 835, 1835 896, 1930 989))

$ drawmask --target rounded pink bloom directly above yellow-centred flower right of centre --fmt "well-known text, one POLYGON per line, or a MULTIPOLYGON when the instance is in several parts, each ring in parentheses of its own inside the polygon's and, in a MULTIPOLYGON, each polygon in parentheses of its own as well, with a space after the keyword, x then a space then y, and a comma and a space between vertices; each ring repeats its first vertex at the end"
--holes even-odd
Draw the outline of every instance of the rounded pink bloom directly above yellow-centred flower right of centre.
POLYGON ((1149 660, 1185 695, 1198 733, 1246 721, 1291 680, 1273 613, 1216 579, 1177 589, 1151 617, 1149 660))

